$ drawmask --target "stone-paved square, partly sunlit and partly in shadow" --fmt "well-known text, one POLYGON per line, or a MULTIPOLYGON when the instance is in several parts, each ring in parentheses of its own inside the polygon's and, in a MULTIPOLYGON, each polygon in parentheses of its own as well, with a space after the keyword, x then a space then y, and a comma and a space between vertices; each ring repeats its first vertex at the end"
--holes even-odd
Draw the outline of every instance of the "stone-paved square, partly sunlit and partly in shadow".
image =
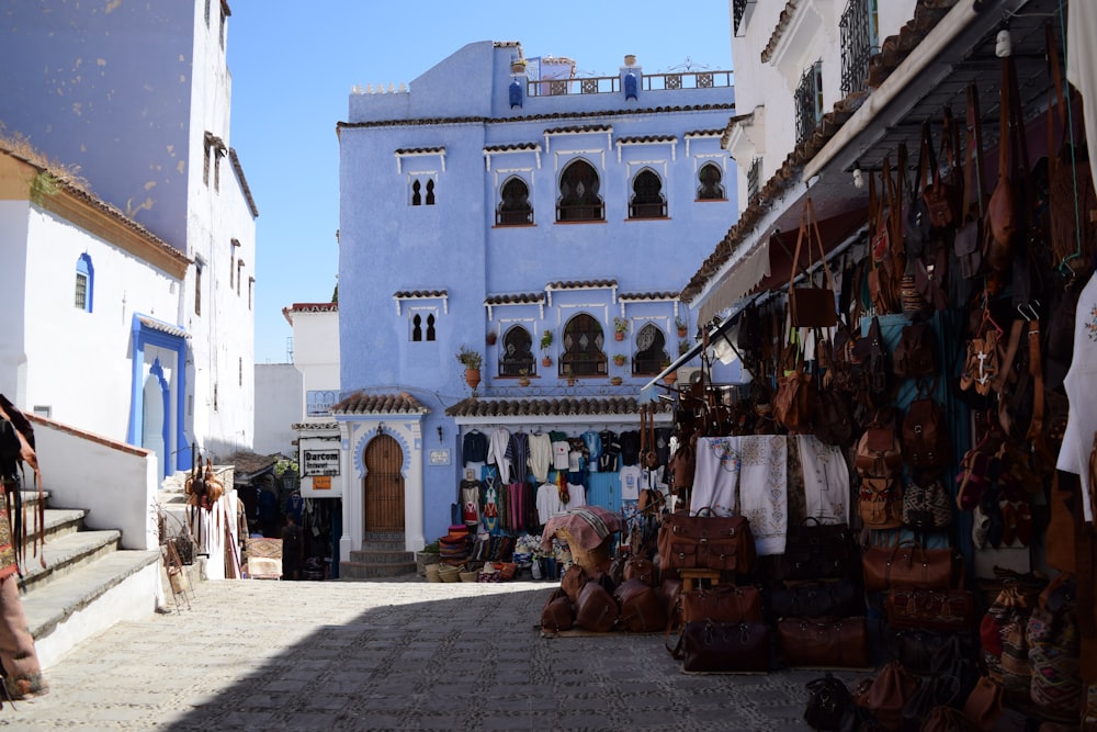
MULTIPOLYGON (((663 635, 543 639, 545 583, 206 582, 5 705, 16 730, 807 730, 818 672, 682 674, 663 635)), ((845 675, 844 675, 845 676, 845 675)), ((848 678, 856 678, 849 676, 848 678)))

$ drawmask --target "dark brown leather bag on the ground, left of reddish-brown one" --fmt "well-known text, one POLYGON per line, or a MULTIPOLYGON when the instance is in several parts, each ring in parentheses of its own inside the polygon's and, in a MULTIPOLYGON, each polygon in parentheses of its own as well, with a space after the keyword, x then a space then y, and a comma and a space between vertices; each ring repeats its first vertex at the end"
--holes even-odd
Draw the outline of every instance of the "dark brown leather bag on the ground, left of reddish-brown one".
POLYGON ((690 673, 768 673, 769 628, 762 622, 686 623, 682 669, 690 673))

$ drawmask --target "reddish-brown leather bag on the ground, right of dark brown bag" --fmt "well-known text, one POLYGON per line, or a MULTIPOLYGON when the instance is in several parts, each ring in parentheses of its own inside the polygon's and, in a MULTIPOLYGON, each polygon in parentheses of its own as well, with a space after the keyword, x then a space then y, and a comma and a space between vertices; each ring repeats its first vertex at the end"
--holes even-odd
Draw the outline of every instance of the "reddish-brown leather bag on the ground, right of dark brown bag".
POLYGON ((782 618, 777 621, 777 637, 790 666, 871 665, 864 618, 782 618))

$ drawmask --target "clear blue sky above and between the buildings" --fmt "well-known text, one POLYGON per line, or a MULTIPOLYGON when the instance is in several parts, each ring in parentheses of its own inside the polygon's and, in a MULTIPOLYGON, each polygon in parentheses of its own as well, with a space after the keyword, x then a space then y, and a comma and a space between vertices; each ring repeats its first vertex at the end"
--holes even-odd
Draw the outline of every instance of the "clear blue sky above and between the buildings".
POLYGON ((259 207, 256 362, 286 361, 282 308, 329 302, 339 269, 339 146, 354 85, 409 83, 475 41, 519 41, 612 76, 732 67, 727 0, 530 3, 499 0, 230 0, 230 144, 259 207))

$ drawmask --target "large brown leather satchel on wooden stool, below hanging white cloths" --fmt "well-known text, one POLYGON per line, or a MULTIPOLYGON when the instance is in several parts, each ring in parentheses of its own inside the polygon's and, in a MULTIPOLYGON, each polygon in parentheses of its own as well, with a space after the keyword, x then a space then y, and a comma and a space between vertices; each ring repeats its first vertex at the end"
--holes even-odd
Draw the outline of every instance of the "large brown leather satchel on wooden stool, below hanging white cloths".
POLYGON ((749 573, 758 556, 745 516, 663 517, 657 539, 663 570, 708 568, 749 573))

